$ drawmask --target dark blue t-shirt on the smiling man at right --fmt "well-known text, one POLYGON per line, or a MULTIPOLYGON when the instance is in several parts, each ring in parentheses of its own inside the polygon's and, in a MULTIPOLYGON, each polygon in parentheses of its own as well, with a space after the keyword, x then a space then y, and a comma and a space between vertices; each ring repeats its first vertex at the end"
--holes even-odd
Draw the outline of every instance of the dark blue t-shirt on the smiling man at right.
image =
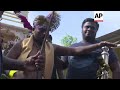
MULTIPOLYGON (((73 44, 71 47, 90 45, 85 42, 73 44)), ((67 79, 97 79, 97 70, 99 69, 98 57, 101 56, 102 49, 97 49, 89 54, 80 56, 69 56, 67 79)), ((110 49, 109 63, 117 60, 116 55, 110 49)))

